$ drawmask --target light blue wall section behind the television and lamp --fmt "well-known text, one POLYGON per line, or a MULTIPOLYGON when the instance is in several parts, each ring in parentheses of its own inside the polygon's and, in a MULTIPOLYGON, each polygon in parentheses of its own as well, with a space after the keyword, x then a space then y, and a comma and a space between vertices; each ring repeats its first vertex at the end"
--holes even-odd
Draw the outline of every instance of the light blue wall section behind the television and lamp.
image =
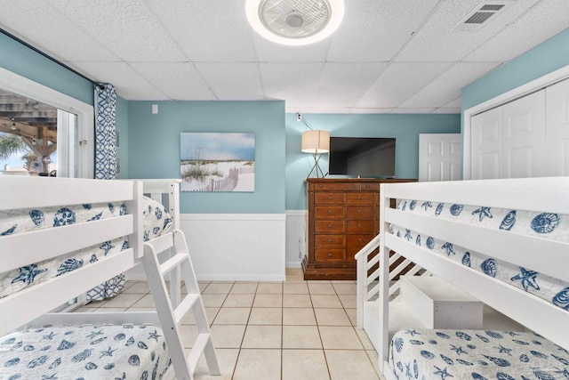
MULTIPOLYGON (((460 115, 337 115, 307 114, 305 121, 313 129, 329 131, 332 136, 395 137, 396 177, 419 176, 419 133, 460 133, 460 115)), ((286 209, 306 207, 305 182, 314 162, 301 152, 301 133, 308 128, 297 121, 295 114, 286 115, 286 209)), ((326 155, 321 166, 328 166, 326 155)))

